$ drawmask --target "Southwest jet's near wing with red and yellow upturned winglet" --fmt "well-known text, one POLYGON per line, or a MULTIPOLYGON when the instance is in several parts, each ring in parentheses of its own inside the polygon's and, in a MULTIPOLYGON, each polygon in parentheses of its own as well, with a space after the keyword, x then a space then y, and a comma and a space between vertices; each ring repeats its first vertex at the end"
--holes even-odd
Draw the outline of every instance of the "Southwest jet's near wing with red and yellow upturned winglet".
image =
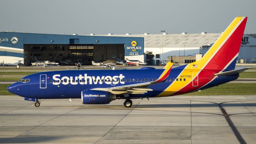
POLYGON ((111 92, 112 94, 144 94, 147 93, 148 91, 152 91, 152 89, 148 88, 148 86, 157 84, 159 82, 164 82, 166 78, 169 76, 170 71, 172 69, 173 63, 168 62, 166 64, 164 72, 161 74, 161 76, 153 81, 153 82, 143 82, 139 84, 129 84, 129 85, 124 85, 124 86, 115 86, 115 87, 110 87, 110 88, 93 88, 91 90, 101 90, 101 91, 107 91, 111 92))

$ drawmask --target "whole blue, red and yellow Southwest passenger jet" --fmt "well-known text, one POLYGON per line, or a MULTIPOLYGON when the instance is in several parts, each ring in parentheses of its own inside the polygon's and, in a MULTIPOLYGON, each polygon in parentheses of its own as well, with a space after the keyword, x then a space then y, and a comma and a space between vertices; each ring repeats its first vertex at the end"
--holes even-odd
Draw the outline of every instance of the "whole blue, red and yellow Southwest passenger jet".
POLYGON ((62 70, 39 72, 10 85, 9 92, 34 101, 81 98, 83 104, 108 104, 124 99, 175 96, 236 80, 246 67, 235 68, 247 17, 237 17, 202 59, 172 68, 136 70, 62 70))

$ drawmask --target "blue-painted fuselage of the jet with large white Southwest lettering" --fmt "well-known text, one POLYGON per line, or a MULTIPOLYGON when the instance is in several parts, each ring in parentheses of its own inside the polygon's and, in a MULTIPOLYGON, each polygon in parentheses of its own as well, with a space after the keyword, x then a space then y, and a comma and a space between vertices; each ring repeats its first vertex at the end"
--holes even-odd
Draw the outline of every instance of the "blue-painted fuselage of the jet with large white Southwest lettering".
MULTIPOLYGON (((154 97, 166 90, 186 65, 172 68, 170 75, 164 82, 154 84, 148 88, 153 91, 146 94, 130 94, 130 98, 154 97)), ((22 79, 29 82, 16 82, 8 87, 8 90, 26 98, 81 98, 83 90, 92 88, 110 88, 128 84, 138 84, 152 82, 159 78, 164 69, 146 69, 146 70, 62 70, 39 72, 25 76, 22 79)), ((219 76, 206 86, 200 88, 210 88, 218 86, 232 80, 238 76, 219 76)), ((180 78, 178 78, 180 80, 180 78)), ((182 80, 185 80, 182 78, 182 80)), ((187 80, 189 80, 187 78, 187 80)), ((200 78, 198 79, 200 82, 200 78)), ((173 93, 170 91, 170 93, 173 93)), ((188 93, 188 92, 184 92, 188 93)), ((170 94, 171 95, 171 94, 170 94)), ((120 96, 122 98, 122 96, 120 96)))

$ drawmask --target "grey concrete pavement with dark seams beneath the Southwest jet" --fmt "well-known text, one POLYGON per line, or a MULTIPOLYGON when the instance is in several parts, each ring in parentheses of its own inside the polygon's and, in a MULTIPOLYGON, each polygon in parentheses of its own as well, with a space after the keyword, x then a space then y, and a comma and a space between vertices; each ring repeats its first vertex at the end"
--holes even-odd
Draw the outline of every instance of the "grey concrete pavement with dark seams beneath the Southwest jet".
POLYGON ((0 96, 0 143, 256 143, 256 96, 136 99, 132 108, 123 102, 41 100, 36 108, 19 96, 0 96))

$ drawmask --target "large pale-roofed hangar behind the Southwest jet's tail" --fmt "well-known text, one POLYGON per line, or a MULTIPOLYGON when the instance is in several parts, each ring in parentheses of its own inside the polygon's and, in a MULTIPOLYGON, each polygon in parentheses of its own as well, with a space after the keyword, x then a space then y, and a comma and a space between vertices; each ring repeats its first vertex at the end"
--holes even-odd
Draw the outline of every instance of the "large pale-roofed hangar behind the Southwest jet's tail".
MULTIPOLYGON (((154 54, 155 64, 162 61, 168 62, 178 58, 175 63, 190 63, 200 59, 198 54, 204 54, 220 37, 221 33, 188 34, 126 34, 111 36, 142 37, 144 38, 144 52, 150 51, 154 54)), ((107 35, 101 35, 107 36, 107 35)), ((201 57, 202 57, 201 56, 201 57)), ((244 34, 237 63, 256 63, 256 38, 244 34)))

